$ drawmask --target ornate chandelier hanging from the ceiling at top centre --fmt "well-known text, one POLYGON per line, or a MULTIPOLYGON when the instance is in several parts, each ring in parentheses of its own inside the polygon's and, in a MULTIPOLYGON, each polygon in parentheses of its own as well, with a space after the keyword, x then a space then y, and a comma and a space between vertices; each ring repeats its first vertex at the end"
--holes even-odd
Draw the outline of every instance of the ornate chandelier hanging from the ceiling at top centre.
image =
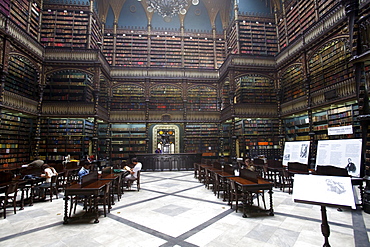
MULTIPOLYGON (((147 0, 146 3, 148 12, 157 12, 165 22, 170 22, 175 15, 186 14, 189 0, 147 0)), ((191 3, 197 5, 199 0, 191 0, 191 3)))

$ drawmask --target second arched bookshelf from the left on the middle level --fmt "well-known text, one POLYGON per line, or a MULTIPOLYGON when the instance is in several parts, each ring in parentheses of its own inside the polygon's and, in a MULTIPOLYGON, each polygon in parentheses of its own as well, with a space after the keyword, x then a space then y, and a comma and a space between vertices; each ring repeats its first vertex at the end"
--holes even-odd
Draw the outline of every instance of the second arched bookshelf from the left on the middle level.
POLYGON ((44 101, 93 100, 91 76, 84 72, 63 70, 52 74, 48 80, 44 89, 44 101))

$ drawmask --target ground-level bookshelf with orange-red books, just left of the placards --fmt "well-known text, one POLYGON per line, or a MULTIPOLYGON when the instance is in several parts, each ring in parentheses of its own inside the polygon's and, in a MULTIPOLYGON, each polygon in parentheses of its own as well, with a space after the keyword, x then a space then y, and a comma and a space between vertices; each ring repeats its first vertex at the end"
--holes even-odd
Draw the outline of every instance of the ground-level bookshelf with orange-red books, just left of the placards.
POLYGON ((278 119, 239 119, 235 122, 235 135, 239 139, 240 155, 265 155, 270 159, 280 156, 278 119))

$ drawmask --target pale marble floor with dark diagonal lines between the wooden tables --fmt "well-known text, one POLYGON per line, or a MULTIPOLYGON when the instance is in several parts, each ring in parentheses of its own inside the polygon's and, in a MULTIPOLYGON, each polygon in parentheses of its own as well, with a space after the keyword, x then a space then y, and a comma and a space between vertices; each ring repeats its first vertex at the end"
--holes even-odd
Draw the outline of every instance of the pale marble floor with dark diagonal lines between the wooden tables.
MULTIPOLYGON (((242 217, 192 171, 142 172, 100 222, 63 224, 63 195, 0 219, 0 246, 322 246, 321 211, 274 189, 274 216, 242 217), (133 186, 135 189, 135 185, 133 186)), ((370 246, 370 214, 327 208, 332 247, 370 246)))

